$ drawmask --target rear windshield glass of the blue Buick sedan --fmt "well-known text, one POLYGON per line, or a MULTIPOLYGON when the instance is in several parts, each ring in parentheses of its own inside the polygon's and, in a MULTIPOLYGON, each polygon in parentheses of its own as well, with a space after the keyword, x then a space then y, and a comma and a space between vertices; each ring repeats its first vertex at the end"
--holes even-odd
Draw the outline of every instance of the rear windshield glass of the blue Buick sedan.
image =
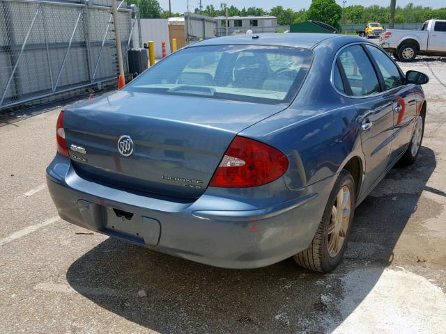
POLYGON ((295 97, 312 58, 311 50, 291 47, 189 47, 157 63, 124 89, 284 104, 295 97))

